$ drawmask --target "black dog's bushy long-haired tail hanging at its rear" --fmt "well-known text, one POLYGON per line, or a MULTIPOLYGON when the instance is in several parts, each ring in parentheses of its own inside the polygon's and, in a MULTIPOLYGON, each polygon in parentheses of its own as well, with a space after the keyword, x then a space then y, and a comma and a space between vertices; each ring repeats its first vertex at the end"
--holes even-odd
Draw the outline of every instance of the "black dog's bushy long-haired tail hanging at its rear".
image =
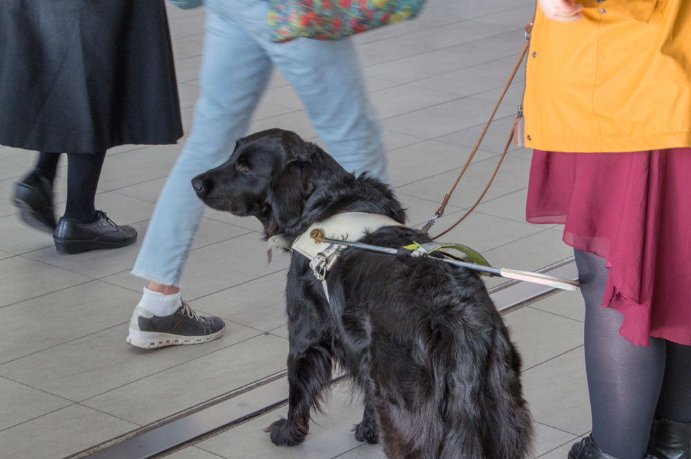
MULTIPOLYGON (((444 441, 439 459, 525 459, 533 424, 520 382, 521 358, 501 324, 475 336, 457 336, 442 403, 444 441), (488 352, 480 351, 485 349, 488 352)), ((448 356, 448 353, 444 353, 448 356)))

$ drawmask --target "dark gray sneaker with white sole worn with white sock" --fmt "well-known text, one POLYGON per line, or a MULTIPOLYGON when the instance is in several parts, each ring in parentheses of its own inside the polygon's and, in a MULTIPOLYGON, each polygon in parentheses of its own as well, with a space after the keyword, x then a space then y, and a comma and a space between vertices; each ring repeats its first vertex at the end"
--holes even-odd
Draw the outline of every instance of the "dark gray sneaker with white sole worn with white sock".
POLYGON ((220 338, 225 324, 220 318, 202 317, 187 304, 171 315, 158 317, 137 306, 130 320, 127 342, 142 349, 201 344, 220 338))

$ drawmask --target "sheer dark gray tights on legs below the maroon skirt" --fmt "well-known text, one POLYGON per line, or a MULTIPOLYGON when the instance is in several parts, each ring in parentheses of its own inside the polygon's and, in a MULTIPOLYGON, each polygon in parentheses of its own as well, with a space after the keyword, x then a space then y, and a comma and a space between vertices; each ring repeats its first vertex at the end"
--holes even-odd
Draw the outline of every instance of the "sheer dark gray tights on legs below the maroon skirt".
POLYGON ((641 459, 654 415, 691 422, 691 346, 661 338, 650 338, 649 347, 636 346, 619 335, 623 315, 601 307, 606 260, 574 252, 585 300, 593 440, 616 458, 641 459))

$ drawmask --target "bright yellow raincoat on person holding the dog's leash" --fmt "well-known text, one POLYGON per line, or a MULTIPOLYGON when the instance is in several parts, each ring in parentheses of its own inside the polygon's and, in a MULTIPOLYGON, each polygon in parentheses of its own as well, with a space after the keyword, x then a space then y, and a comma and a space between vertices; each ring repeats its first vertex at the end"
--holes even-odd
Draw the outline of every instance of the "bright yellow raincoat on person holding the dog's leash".
POLYGON ((691 146, 691 0, 578 0, 537 8, 528 54, 529 148, 613 153, 691 146))

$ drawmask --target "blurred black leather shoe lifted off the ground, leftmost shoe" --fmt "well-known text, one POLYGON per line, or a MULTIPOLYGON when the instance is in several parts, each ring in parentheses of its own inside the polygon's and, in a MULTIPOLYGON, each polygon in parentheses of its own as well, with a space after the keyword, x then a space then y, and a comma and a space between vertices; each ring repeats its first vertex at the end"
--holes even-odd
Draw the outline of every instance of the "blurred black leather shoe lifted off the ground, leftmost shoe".
POLYGON ((46 233, 53 233, 57 223, 53 210, 53 187, 36 171, 17 184, 12 202, 21 211, 24 223, 46 233))

